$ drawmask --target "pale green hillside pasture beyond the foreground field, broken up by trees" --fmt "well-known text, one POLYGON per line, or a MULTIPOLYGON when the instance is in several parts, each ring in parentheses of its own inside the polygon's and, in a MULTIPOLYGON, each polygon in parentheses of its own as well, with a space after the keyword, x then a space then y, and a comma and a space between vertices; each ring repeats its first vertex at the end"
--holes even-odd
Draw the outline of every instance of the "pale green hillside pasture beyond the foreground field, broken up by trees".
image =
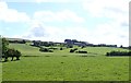
MULTIPOLYGON (((29 46, 28 44, 10 44, 11 48, 15 48, 17 50, 20 50, 23 56, 43 56, 45 55, 45 52, 40 52, 38 47, 33 47, 29 46)), ((58 47, 60 48, 60 47, 58 47)), ((111 50, 120 50, 120 51, 128 51, 127 49, 122 49, 122 48, 111 48, 111 47, 86 47, 81 49, 80 47, 79 50, 86 50, 88 54, 88 56, 105 56, 106 52, 111 51, 111 50)), ((63 50, 55 50, 53 55, 72 55, 70 54, 71 48, 66 48, 63 50)), ((48 54, 48 52, 46 52, 48 54)), ((51 54, 50 54, 51 55, 51 54)), ((73 55, 78 55, 78 54, 73 54, 73 55)))

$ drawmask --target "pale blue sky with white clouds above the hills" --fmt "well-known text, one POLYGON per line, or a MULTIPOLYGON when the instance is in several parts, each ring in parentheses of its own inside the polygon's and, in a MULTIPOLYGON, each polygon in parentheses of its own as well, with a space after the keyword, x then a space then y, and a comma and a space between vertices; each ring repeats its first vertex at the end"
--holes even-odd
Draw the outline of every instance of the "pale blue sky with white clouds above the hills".
POLYGON ((1 0, 0 35, 129 46, 130 0, 1 0))

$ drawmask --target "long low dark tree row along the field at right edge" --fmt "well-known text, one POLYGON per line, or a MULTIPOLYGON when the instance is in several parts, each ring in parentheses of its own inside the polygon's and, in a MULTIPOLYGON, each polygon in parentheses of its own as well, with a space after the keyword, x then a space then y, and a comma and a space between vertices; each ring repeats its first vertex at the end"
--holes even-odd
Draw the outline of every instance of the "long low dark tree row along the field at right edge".
POLYGON ((106 56, 131 56, 131 51, 110 51, 106 56))

